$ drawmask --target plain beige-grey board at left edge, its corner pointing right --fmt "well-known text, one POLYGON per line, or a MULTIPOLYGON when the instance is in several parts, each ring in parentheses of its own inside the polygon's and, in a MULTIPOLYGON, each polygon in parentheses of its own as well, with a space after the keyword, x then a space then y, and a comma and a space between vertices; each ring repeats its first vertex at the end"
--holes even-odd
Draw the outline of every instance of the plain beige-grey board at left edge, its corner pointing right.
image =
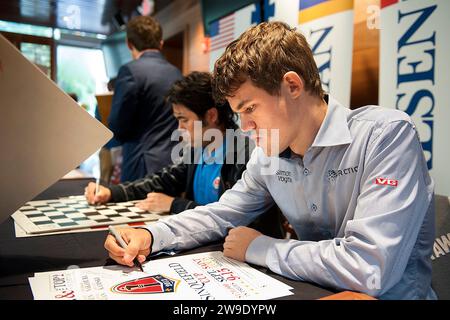
POLYGON ((0 35, 0 223, 111 137, 0 35))

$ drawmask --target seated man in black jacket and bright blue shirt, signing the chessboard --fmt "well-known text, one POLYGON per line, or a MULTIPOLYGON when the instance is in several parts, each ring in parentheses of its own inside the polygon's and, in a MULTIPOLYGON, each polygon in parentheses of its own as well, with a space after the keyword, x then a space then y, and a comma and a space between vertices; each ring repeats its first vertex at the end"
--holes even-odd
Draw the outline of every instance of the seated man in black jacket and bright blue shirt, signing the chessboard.
POLYGON ((234 134, 237 125, 228 104, 216 106, 212 98, 211 75, 192 72, 176 81, 167 100, 179 123, 179 131, 187 134, 192 148, 183 155, 183 161, 162 168, 143 179, 108 188, 95 183, 86 188, 89 203, 143 200, 141 209, 176 214, 198 205, 215 202, 241 178, 245 164, 254 147, 250 139, 234 134), (197 121, 197 126, 195 122, 197 121), (200 134, 195 130, 200 129, 200 134), (232 129, 231 138, 225 138, 232 129), (222 141, 209 143, 202 139, 208 132, 220 133, 222 141), (200 138, 200 139, 199 139, 200 138), (214 161, 207 161, 213 155, 214 161), (212 162, 212 163, 210 163, 212 162))

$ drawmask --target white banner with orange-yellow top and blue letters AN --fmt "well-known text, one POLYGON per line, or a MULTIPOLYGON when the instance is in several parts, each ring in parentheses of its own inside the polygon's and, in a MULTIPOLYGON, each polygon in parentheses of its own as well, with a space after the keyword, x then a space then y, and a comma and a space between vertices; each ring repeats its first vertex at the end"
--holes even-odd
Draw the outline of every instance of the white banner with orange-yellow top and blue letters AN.
POLYGON ((311 46, 323 89, 350 106, 353 0, 300 0, 298 23, 311 46))

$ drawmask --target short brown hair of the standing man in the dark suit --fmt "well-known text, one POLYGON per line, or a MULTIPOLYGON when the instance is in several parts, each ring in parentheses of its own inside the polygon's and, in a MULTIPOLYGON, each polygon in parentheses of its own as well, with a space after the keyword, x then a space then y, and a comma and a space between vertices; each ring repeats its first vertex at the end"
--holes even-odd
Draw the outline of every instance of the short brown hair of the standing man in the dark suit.
POLYGON ((138 51, 159 49, 162 40, 161 25, 152 17, 134 17, 127 23, 127 39, 138 51))

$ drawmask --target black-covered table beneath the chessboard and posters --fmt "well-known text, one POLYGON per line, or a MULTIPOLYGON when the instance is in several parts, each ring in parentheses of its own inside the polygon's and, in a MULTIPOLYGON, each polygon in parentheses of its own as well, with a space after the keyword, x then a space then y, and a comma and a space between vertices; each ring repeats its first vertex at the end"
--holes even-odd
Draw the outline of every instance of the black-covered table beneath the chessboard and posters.
MULTIPOLYGON (((90 181, 92 179, 60 180, 34 200, 81 195, 90 181)), ((14 222, 12 218, 7 219, 0 225, 0 299, 33 299, 28 277, 33 276, 35 272, 63 270, 74 266, 96 267, 112 263, 103 247, 106 235, 107 231, 98 231, 16 238, 14 222)), ((180 254, 217 250, 222 250, 221 243, 180 254)), ((283 300, 318 299, 335 293, 315 284, 289 280, 266 268, 254 267, 294 288, 294 294, 280 298, 283 300)))

